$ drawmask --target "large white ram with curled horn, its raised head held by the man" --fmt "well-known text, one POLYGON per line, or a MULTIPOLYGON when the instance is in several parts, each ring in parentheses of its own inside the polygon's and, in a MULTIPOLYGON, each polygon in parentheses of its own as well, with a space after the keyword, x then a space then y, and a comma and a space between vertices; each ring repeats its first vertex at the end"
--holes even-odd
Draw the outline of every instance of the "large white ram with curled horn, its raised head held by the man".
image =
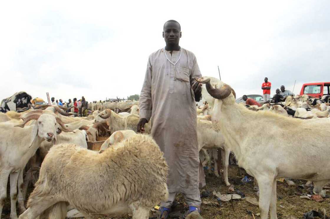
POLYGON ((276 179, 313 181, 315 193, 330 181, 330 130, 324 128, 329 126, 328 119, 305 120, 268 110, 251 111, 235 102, 235 92, 229 85, 219 81, 222 86, 215 89, 208 77, 197 81, 205 83, 207 91, 216 98, 213 126, 223 134, 238 165, 258 181, 261 219, 268 218, 269 210, 271 218, 277 218, 276 179), (300 136, 308 138, 300 141, 300 136))

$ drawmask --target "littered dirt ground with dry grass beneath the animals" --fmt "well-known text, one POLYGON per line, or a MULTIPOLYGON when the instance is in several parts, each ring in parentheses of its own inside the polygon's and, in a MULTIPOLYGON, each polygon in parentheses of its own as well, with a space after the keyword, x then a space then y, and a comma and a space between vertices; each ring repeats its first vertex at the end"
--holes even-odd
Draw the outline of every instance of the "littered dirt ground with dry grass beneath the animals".
MULTIPOLYGON (((202 217, 205 219, 245 219, 245 218, 260 218, 257 216, 260 213, 258 206, 253 205, 245 200, 235 199, 227 202, 218 202, 216 197, 212 195, 213 191, 220 192, 221 194, 229 194, 228 187, 222 183, 222 180, 216 178, 213 175, 208 174, 206 171, 206 186, 201 192, 209 191, 209 197, 202 198, 202 217)), ((316 202, 309 199, 299 198, 299 194, 311 194, 308 188, 300 188, 298 185, 305 184, 304 180, 293 180, 296 187, 289 187, 286 183, 277 183, 277 214, 279 219, 301 219, 305 212, 317 209, 325 209, 327 216, 330 216, 330 198, 324 198, 321 202, 316 202)), ((229 167, 229 182, 234 184, 235 190, 239 190, 245 194, 246 197, 255 197, 258 200, 256 192, 253 191, 253 183, 242 183, 241 177, 238 176, 238 167, 232 165, 229 167)), ((327 188, 329 189, 329 188, 327 188)), ((9 188, 7 189, 7 192, 9 188)), ((32 191, 32 189, 31 189, 32 191)), ((31 192, 30 191, 30 192, 31 192)), ((330 193, 327 192, 327 195, 330 193)), ((174 214, 178 215, 183 213, 187 206, 184 203, 182 195, 177 196, 177 201, 180 204, 176 205, 174 214)), ((150 218, 154 216, 154 212, 150 212, 150 218)), ((2 211, 2 218, 10 218, 10 199, 9 193, 7 194, 7 201, 2 211)), ((110 219, 110 217, 100 217, 102 219, 110 219)), ((123 219, 129 219, 129 216, 120 217, 123 219)), ((180 217, 170 217, 180 218, 180 217)), ((116 218, 119 219, 119 218, 116 218)))

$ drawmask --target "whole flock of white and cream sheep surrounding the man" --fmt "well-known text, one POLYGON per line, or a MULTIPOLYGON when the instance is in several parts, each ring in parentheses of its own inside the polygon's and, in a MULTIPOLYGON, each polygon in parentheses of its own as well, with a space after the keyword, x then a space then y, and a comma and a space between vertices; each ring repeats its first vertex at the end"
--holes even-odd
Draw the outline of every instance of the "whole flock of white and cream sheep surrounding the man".
MULTIPOLYGON (((247 108, 235 103, 235 91, 222 81, 211 77, 196 80, 203 83, 202 95, 208 102, 197 109, 201 160, 205 164, 220 149, 223 179, 229 186, 232 151, 239 166, 259 184, 262 219, 268 218, 269 209, 271 218, 277 218, 277 178, 312 181, 316 192, 330 181, 330 109, 324 100, 297 96, 281 105, 247 108)), ((149 218, 149 210, 167 200, 168 167, 148 135, 150 122, 145 134, 136 134, 138 104, 90 104, 93 111, 87 117, 73 117, 66 108, 47 105, 0 113, 0 211, 10 176, 11 218, 17 218, 17 201, 20 219, 128 213, 133 219, 149 218), (87 150, 87 141, 96 141, 109 131, 111 136, 100 151, 87 150), (26 210, 27 187, 38 170, 26 210)), ((217 175, 216 167, 215 163, 217 175)))

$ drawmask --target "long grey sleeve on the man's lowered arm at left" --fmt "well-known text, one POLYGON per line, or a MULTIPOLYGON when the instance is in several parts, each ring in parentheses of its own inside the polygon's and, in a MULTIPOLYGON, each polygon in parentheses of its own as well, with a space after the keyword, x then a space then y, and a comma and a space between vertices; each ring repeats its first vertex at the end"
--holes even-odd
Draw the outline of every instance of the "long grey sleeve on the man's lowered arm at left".
POLYGON ((151 118, 151 112, 152 112, 151 79, 152 79, 152 65, 151 65, 150 57, 149 57, 147 71, 146 71, 145 79, 144 79, 141 94, 140 94, 140 100, 139 100, 139 102, 140 102, 140 107, 139 107, 140 118, 145 118, 148 121, 151 118))

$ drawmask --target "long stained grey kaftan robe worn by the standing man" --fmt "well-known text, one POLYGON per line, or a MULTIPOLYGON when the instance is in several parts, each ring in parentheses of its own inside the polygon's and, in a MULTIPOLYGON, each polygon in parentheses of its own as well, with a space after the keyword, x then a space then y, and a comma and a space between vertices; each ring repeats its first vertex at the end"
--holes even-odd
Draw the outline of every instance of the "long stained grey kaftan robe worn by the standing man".
POLYGON ((149 56, 140 95, 140 118, 151 118, 151 136, 164 152, 169 166, 167 185, 170 193, 198 194, 199 154, 196 102, 191 82, 201 77, 195 55, 160 49, 149 56))

